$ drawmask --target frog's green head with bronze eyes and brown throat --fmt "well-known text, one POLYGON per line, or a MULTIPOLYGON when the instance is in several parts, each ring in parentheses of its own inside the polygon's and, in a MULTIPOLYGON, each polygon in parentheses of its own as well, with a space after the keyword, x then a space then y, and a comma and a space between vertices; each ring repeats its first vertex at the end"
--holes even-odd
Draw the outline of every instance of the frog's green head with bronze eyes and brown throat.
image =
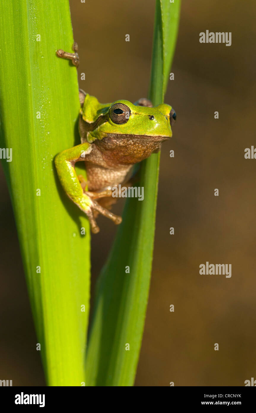
POLYGON ((150 107, 150 103, 141 99, 136 104, 128 100, 100 104, 95 97, 86 95, 81 109, 81 138, 96 143, 102 151, 115 152, 127 163, 135 163, 134 158, 136 162, 145 159, 171 138, 171 126, 176 120, 170 105, 150 107), (145 102, 147 106, 140 106, 145 102))

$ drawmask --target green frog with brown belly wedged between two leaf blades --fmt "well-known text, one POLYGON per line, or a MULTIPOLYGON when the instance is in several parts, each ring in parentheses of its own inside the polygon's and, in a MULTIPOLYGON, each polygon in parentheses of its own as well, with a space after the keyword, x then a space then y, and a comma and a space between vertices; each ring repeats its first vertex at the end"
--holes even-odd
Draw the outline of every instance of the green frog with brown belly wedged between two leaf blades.
MULTIPOLYGON (((70 59, 78 67, 77 43, 73 52, 59 49, 56 55, 70 59)), ((157 153, 162 142, 172 136, 176 112, 169 104, 153 107, 147 98, 137 102, 116 100, 100 103, 79 89, 80 113, 78 128, 81 143, 56 155, 56 171, 66 195, 89 219, 92 233, 99 233, 98 214, 120 224, 122 218, 110 211, 112 188, 129 185, 126 178, 131 168, 157 153), (75 164, 85 162, 87 178, 77 175, 75 164)))

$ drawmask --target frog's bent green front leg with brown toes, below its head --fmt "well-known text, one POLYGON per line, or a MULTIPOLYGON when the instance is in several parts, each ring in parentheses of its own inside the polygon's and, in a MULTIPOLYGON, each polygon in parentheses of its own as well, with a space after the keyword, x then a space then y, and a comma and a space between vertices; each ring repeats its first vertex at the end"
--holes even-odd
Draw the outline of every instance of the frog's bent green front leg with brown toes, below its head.
POLYGON ((66 194, 83 212, 85 212, 90 221, 92 232, 96 234, 99 232, 99 227, 93 216, 94 210, 98 211, 107 218, 110 218, 115 224, 120 224, 122 218, 101 207, 101 205, 92 199, 93 196, 90 197, 90 192, 84 192, 82 189, 78 176, 75 172, 75 163, 78 161, 84 161, 86 159, 86 155, 89 154, 91 150, 92 146, 87 142, 67 149, 56 156, 55 166, 59 180, 66 194))

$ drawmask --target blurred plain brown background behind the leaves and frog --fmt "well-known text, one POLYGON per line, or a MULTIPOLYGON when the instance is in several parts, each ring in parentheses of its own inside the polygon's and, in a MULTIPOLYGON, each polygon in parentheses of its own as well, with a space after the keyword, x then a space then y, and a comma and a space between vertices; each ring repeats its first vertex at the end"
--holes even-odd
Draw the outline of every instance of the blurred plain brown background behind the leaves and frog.
MULTIPOLYGON (((100 102, 147 96, 154 3, 70 1, 78 74, 86 76, 80 87, 100 102)), ((244 380, 256 377, 256 160, 244 159, 244 149, 256 146, 255 19, 252 0, 182 4, 171 70, 175 80, 169 81, 165 99, 176 109, 177 122, 161 154, 153 273, 136 386, 171 381, 244 386, 244 380), (232 45, 199 43, 199 33, 207 29, 232 32, 232 45), (232 277, 200 275, 199 265, 206 261, 231 263, 232 277)), ((0 378, 12 378, 13 385, 44 385, 2 169, 0 220, 0 378)), ((101 233, 92 236, 93 285, 116 230, 106 218, 99 224, 101 233)))

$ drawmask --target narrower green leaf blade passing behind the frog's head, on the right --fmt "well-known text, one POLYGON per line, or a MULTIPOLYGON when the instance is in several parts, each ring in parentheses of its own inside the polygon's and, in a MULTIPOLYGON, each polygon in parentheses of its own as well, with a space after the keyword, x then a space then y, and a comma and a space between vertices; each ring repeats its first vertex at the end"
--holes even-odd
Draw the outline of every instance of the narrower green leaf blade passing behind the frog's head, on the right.
MULTIPOLYGON (((149 93, 154 105, 164 98, 179 7, 178 0, 175 6, 169 0, 156 1, 149 93)), ((144 187, 144 200, 127 199, 123 222, 98 281, 87 351, 89 385, 134 384, 150 286, 159 161, 160 154, 153 154, 141 163, 139 186, 144 187)))

